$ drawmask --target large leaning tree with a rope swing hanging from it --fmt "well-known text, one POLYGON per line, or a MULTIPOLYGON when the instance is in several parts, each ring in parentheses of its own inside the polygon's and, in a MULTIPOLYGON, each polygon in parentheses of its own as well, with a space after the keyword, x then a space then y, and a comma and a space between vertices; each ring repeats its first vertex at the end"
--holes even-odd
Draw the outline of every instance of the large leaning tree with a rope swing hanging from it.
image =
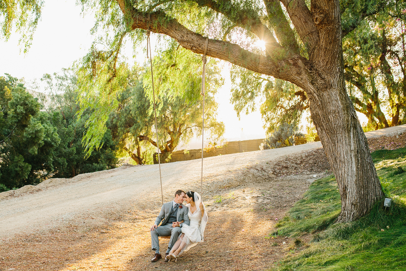
POLYGON ((306 92, 341 194, 337 221, 358 219, 384 196, 346 91, 342 39, 368 16, 386 12, 401 17, 403 2, 311 0, 309 6, 304 0, 81 2, 86 9, 97 9, 94 31, 102 29, 107 44, 101 48, 99 39, 81 63, 81 98, 99 109, 89 118, 86 146, 97 147, 98 135, 106 130, 103 125, 93 129, 90 123, 106 123, 109 108, 118 105, 117 92, 125 90, 125 61, 119 57, 125 37, 140 44, 148 30, 171 37, 186 50, 207 52, 209 57, 291 82, 306 92), (265 50, 254 45, 258 39, 265 50))

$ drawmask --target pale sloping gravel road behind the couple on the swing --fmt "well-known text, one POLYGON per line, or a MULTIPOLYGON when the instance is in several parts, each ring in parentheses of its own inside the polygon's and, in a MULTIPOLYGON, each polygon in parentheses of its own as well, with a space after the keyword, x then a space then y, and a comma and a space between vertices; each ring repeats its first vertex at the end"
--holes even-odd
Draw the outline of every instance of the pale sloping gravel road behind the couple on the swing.
MULTIPOLYGON (((209 187, 210 191, 216 181, 232 181, 230 173, 236 170, 315 147, 320 147, 320 142, 207 157, 204 161, 204 190, 209 187)), ((189 190, 189 186, 200 181, 200 160, 162 164, 161 169, 165 201, 178 188, 189 190)), ((150 195, 160 194, 159 181, 158 165, 125 166, 72 179, 48 179, 38 186, 20 188, 21 191, 3 192, 0 195, 14 192, 19 196, 0 201, 0 240, 16 233, 29 234, 69 223, 76 223, 79 227, 104 223, 104 214, 127 210, 138 199, 149 201, 150 195), (89 216, 95 218, 90 224, 86 219, 89 216)), ((161 199, 157 201, 159 203, 161 199)))

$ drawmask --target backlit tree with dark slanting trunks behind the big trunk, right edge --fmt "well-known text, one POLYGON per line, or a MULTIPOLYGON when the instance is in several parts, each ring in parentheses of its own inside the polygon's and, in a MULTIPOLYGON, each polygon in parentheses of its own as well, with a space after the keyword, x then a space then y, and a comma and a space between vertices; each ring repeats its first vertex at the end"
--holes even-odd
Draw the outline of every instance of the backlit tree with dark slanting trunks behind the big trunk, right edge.
POLYGON ((380 129, 400 125, 406 116, 405 24, 390 16, 372 19, 346 37, 344 75, 356 111, 380 129))

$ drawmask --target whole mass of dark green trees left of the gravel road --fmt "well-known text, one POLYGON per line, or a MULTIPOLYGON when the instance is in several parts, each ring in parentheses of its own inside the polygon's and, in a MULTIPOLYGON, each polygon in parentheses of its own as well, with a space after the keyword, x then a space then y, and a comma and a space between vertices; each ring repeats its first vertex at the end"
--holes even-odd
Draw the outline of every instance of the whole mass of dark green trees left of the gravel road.
POLYGON ((76 120, 76 77, 65 70, 45 74, 43 80, 52 91, 34 98, 16 78, 0 77, 0 192, 117 164, 110 132, 100 151, 84 159, 84 123, 76 120))

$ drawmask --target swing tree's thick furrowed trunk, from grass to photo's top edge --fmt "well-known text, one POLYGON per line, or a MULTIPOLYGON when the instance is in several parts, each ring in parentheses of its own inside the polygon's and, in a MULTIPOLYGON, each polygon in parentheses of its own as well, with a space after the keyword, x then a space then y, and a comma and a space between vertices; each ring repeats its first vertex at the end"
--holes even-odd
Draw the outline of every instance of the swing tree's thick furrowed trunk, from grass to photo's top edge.
POLYGON ((384 194, 345 87, 339 5, 330 8, 328 1, 319 0, 312 2, 311 12, 319 33, 308 66, 311 118, 341 194, 337 222, 354 221, 369 213, 384 194))

